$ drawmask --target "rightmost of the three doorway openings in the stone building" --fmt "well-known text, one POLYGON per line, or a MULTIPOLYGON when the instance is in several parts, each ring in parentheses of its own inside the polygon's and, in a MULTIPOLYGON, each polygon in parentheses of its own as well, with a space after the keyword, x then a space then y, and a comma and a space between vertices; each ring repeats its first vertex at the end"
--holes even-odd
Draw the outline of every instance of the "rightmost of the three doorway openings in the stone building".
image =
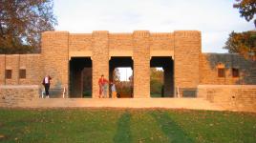
POLYGON ((150 96, 173 97, 174 62, 172 57, 153 56, 150 60, 150 68, 150 96))

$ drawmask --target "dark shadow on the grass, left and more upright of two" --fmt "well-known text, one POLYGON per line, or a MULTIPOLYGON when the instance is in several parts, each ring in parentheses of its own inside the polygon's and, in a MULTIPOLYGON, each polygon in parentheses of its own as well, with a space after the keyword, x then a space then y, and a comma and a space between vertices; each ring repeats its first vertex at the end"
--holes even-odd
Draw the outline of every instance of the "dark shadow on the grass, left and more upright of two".
POLYGON ((114 136, 114 142, 131 142, 131 113, 124 112, 117 121, 117 133, 114 136))

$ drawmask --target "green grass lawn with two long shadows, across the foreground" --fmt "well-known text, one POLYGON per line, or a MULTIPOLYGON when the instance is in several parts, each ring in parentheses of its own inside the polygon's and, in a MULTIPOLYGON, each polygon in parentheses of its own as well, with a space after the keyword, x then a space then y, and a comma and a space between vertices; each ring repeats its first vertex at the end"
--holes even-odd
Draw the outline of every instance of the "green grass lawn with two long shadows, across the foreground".
POLYGON ((256 143, 256 113, 162 109, 0 109, 1 135, 0 142, 24 143, 256 143))

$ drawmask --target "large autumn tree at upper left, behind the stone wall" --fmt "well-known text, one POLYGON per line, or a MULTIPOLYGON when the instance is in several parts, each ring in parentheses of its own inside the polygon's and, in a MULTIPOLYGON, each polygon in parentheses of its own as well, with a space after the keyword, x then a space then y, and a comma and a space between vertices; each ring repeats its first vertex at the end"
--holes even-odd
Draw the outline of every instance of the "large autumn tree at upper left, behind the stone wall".
POLYGON ((38 50, 41 32, 56 24, 52 0, 0 0, 0 53, 38 50))

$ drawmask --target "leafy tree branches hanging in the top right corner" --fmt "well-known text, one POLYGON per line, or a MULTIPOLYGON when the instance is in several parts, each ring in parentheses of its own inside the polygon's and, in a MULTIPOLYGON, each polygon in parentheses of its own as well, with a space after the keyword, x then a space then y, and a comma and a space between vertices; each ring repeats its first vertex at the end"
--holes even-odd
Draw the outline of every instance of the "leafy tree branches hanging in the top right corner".
MULTIPOLYGON (((236 0, 238 3, 233 7, 239 9, 241 17, 245 17, 246 21, 253 19, 256 13, 256 0, 236 0)), ((254 19, 254 25, 256 27, 256 19, 254 19)))

